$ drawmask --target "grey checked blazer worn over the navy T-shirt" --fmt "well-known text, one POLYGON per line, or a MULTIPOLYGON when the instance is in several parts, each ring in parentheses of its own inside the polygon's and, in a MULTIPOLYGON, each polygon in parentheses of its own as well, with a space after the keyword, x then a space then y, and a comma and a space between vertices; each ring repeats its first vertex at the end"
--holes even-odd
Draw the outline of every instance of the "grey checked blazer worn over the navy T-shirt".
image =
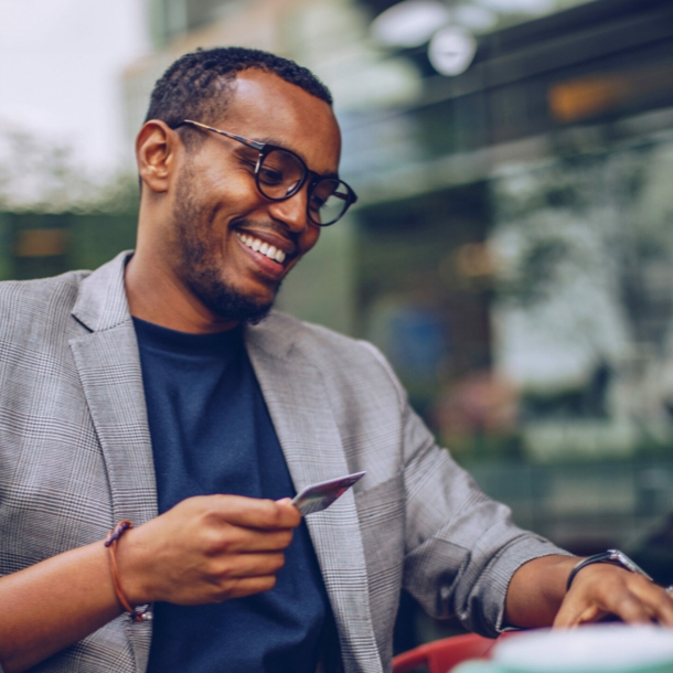
MULTIPOLYGON (((0 574, 157 515, 127 257, 0 284, 0 574)), ((435 446, 372 345, 280 313, 246 344, 297 490, 367 472, 308 519, 344 671, 391 671, 402 587, 496 634, 514 570, 559 549, 435 446)), ((120 617, 34 670, 141 673, 150 638, 151 622, 120 617)))

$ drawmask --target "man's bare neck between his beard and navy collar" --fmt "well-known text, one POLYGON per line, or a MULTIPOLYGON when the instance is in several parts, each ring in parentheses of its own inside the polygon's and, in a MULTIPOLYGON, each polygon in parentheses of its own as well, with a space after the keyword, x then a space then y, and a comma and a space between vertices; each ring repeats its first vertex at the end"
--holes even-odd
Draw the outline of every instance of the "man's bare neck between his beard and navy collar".
POLYGON ((238 322, 214 314, 156 259, 137 252, 124 277, 131 316, 193 334, 224 332, 238 322))

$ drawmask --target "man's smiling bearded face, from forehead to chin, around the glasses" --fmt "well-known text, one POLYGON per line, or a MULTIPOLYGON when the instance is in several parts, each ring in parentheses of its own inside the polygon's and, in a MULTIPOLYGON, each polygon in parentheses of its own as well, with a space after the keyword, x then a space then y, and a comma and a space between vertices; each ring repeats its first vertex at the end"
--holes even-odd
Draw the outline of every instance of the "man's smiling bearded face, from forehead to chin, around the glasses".
MULTIPOLYGON (((330 106, 276 75, 239 73, 222 118, 196 121, 289 149, 317 173, 338 169, 340 135, 330 106)), ((171 266, 213 313, 255 322, 318 241, 320 227, 307 217, 307 185, 287 201, 269 201, 255 184, 255 149, 191 132, 207 137, 182 153, 171 266)))

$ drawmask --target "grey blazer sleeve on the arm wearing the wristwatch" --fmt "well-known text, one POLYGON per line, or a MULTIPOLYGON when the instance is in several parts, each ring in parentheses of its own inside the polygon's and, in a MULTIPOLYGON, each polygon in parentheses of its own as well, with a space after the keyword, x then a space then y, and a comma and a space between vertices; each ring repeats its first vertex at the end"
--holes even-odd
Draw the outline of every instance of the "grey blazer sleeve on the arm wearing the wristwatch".
POLYGON ((403 586, 429 615, 458 618, 467 630, 495 637, 506 629, 504 601, 514 573, 534 558, 568 552, 515 526, 510 509, 436 446, 389 364, 375 353, 398 388, 403 416, 403 586))

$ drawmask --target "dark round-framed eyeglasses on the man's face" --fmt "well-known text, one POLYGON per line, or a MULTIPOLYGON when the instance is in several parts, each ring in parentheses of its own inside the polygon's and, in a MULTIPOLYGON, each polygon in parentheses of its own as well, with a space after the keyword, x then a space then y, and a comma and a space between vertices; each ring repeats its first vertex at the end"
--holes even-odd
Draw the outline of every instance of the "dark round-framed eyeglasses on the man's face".
POLYGON ((193 119, 183 119, 173 128, 184 125, 220 133, 256 149, 259 156, 255 164, 255 183, 259 193, 269 201, 290 199, 309 180, 307 215, 318 226, 334 224, 357 201, 355 192, 345 182, 310 171, 301 157, 290 150, 229 133, 193 119))

